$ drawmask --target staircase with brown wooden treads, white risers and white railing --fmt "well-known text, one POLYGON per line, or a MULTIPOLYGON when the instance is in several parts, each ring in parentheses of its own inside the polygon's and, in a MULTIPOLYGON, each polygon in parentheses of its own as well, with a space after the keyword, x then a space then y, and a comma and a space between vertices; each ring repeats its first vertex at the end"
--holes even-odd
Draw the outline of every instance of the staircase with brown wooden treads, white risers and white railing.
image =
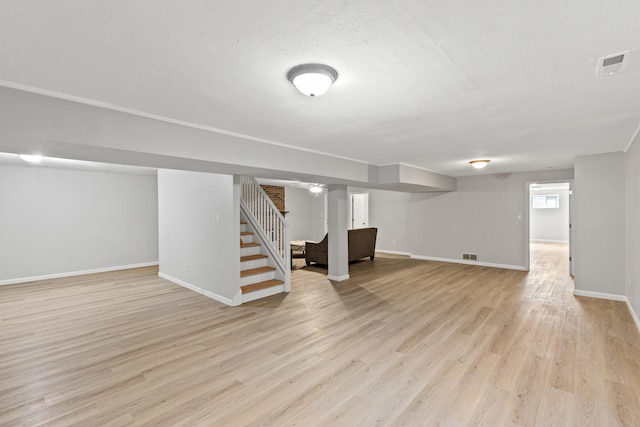
POLYGON ((289 225, 253 178, 240 177, 240 290, 242 302, 289 292, 289 225))

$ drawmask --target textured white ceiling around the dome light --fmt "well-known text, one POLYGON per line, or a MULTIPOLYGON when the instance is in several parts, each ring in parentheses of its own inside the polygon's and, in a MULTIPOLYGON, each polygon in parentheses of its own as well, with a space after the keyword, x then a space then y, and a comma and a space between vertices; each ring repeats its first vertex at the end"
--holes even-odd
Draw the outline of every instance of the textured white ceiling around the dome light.
POLYGON ((639 28, 638 0, 0 0, 0 80, 375 165, 562 169, 637 131, 639 28), (306 62, 339 73, 322 97, 286 80, 306 62))

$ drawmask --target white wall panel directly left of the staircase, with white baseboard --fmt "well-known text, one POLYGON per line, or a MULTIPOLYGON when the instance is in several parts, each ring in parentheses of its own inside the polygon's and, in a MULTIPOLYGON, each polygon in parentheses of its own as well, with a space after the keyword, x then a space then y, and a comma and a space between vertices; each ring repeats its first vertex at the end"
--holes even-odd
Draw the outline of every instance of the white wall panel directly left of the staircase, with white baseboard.
POLYGON ((233 177, 159 170, 158 220, 161 276, 232 304, 240 290, 233 177))

